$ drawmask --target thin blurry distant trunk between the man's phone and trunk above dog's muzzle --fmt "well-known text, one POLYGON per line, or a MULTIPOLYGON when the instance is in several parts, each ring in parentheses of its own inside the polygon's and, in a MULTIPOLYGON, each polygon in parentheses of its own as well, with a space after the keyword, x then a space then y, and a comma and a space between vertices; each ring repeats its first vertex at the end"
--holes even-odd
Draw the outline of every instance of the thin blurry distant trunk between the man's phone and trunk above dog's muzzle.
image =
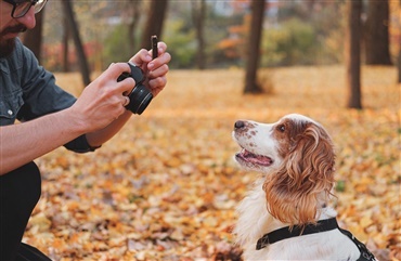
POLYGON ((206 1, 197 0, 192 2, 192 17, 196 28, 197 39, 197 54, 196 65, 199 69, 205 69, 205 37, 204 37, 204 25, 206 14, 206 1))

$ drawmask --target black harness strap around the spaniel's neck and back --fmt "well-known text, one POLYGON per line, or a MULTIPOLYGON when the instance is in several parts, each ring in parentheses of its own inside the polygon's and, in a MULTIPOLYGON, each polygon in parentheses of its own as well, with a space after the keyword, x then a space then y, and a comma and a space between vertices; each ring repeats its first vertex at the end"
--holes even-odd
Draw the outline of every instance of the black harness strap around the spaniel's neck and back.
POLYGON ((358 240, 349 231, 341 230, 338 227, 336 218, 326 219, 326 220, 320 220, 318 223, 314 224, 308 224, 306 226, 294 226, 294 227, 282 227, 275 231, 272 231, 268 234, 264 234, 256 244, 256 250, 260 250, 268 245, 274 244, 280 240, 288 239, 292 237, 297 236, 305 236, 310 234, 316 234, 320 232, 326 232, 326 231, 333 231, 333 230, 339 230, 344 235, 349 237, 353 244, 358 247, 359 251, 361 252, 361 256, 357 261, 376 261, 373 253, 366 248, 364 244, 362 244, 360 240, 358 240))

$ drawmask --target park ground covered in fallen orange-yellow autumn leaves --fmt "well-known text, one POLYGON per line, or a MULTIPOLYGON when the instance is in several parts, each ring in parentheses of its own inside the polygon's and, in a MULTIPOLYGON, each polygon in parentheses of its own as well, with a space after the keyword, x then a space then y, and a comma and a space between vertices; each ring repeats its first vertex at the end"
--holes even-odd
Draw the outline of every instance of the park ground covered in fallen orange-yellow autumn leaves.
MULTIPOLYGON (((401 260, 396 69, 363 67, 362 112, 345 108, 342 67, 264 70, 273 93, 260 96, 242 95, 243 76, 170 71, 148 109, 98 152, 60 148, 38 159, 42 197, 24 240, 54 260, 240 260, 234 209, 257 173, 232 160, 233 123, 300 113, 334 139, 341 225, 380 260, 401 260)), ((79 75, 57 79, 76 94, 81 88, 72 88, 79 75)))

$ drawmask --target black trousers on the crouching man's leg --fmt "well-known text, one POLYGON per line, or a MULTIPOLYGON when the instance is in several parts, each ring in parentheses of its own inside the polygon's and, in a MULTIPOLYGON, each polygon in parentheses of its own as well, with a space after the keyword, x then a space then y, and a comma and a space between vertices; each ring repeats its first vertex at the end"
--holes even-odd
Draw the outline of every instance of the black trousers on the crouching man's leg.
POLYGON ((40 193, 40 172, 35 162, 0 175, 0 261, 50 260, 21 243, 40 193))

